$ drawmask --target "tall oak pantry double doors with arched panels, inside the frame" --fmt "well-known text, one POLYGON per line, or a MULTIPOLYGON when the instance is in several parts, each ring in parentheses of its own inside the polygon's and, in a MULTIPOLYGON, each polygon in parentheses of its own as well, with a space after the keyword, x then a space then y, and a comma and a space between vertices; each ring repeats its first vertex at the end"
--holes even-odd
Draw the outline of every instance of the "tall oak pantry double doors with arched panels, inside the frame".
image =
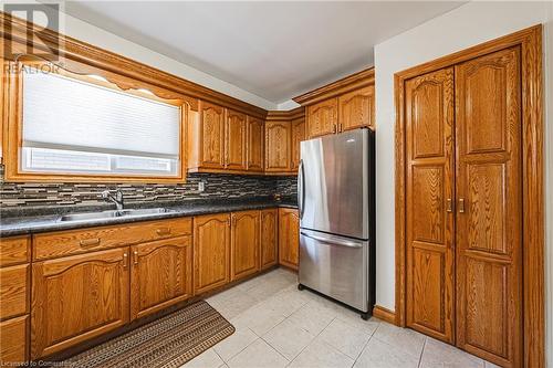
POLYGON ((521 50, 405 83, 407 326, 522 359, 521 50))

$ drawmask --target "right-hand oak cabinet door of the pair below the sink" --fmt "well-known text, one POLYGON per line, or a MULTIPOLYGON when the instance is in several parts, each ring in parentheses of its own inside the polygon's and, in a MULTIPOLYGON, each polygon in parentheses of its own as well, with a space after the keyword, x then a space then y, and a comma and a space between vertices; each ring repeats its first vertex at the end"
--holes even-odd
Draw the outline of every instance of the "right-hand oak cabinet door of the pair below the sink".
POLYGON ((134 245, 131 255, 132 319, 192 295, 191 236, 134 245))

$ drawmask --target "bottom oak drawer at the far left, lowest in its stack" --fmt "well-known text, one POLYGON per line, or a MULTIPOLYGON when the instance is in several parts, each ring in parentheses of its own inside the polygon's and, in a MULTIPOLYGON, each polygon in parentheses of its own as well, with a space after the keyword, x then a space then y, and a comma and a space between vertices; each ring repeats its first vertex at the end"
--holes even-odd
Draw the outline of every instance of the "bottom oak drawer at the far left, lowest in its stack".
POLYGON ((27 361, 27 326, 29 316, 0 323, 0 365, 27 361))

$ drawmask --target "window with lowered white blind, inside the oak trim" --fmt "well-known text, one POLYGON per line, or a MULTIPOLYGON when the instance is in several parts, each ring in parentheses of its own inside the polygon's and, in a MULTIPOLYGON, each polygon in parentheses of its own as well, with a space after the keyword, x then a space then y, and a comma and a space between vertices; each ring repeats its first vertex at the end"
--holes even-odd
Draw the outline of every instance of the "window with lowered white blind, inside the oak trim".
POLYGON ((180 108, 23 71, 23 170, 178 175, 180 108))

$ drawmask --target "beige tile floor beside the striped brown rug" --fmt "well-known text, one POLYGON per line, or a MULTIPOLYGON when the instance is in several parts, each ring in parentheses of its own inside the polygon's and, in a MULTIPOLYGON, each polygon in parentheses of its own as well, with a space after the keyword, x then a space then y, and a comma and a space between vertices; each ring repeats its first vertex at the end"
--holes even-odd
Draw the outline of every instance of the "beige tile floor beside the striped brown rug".
POLYGON ((359 315, 309 291, 284 269, 207 299, 236 333, 184 367, 494 367, 410 329, 359 315))

